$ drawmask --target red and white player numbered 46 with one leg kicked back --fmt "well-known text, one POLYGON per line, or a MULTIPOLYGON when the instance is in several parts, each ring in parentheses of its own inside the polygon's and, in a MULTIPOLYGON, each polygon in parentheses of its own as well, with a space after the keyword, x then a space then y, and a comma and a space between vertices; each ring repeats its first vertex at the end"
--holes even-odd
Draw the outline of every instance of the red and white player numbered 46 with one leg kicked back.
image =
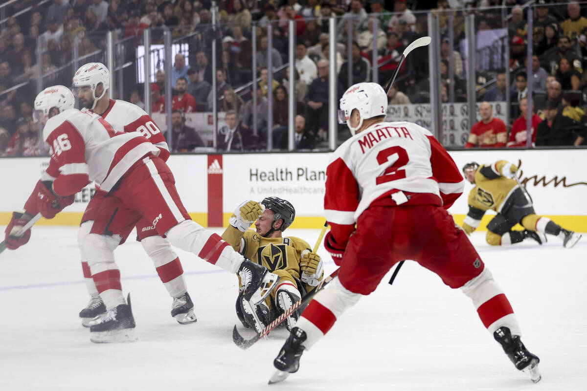
MULTIPOLYGON (((107 313, 90 327, 93 342, 136 340, 130 300, 124 299, 114 249, 120 237, 108 231, 114 217, 125 222, 120 232, 130 233, 147 219, 160 236, 201 259, 239 273, 245 297, 252 304, 264 300, 279 278, 236 253, 220 235, 207 232, 190 220, 175 186, 173 174, 160 149, 137 132, 116 131, 102 117, 73 108, 72 92, 63 86, 41 91, 35 98, 35 115, 43 125, 43 140, 50 145, 49 167, 25 203, 29 215, 52 218, 73 202, 73 195, 91 181, 107 196, 95 214, 92 232, 81 243, 92 278, 107 313), (266 290, 260 290, 261 285, 266 290)), ((28 242, 30 230, 20 238, 26 220, 14 213, 6 228, 6 246, 15 249, 28 242)), ((122 237, 122 240, 126 237, 122 237)))

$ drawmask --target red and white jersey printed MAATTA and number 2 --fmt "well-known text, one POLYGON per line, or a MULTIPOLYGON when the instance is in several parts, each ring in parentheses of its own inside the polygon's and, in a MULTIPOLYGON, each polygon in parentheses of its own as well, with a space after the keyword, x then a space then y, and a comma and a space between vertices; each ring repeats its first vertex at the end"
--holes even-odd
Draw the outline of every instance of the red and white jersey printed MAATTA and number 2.
POLYGON ((334 239, 345 245, 373 202, 387 198, 389 205, 449 208, 463 189, 460 170, 430 131, 409 122, 382 122, 333 153, 326 169, 324 213, 334 239))

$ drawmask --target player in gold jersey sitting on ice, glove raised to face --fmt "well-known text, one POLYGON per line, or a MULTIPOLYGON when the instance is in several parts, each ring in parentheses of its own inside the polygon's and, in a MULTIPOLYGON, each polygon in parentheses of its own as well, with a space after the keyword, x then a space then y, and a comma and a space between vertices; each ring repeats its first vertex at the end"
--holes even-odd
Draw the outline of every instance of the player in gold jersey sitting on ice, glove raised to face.
MULTIPOLYGON (((254 328, 257 332, 289 310, 323 278, 322 260, 318 254, 311 252, 309 244, 298 237, 282 236, 294 218, 294 206, 284 199, 267 197, 261 203, 249 200, 235 209, 229 220, 230 225, 222 234, 222 239, 235 251, 281 277, 265 302, 254 306, 256 308, 243 303, 242 292, 239 294, 238 318, 245 327, 254 328), (255 230, 249 230, 253 222, 255 230), (255 312, 257 319, 251 311, 255 312)), ((300 308, 286 319, 288 330, 295 326, 302 310, 300 308)))

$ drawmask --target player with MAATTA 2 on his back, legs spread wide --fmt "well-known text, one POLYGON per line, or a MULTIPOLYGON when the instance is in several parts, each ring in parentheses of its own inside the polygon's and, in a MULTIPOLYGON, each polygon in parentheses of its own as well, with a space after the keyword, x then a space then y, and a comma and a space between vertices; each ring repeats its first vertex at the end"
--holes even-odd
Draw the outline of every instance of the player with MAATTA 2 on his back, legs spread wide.
POLYGON ((355 84, 340 98, 339 119, 352 137, 330 159, 324 197, 331 227, 325 247, 340 269, 302 312, 269 383, 296 372, 302 352, 406 259, 461 288, 515 367, 538 382, 539 359, 522 344, 510 302, 446 211, 463 192, 463 176, 428 130, 384 122, 386 108, 386 93, 376 83, 355 84))

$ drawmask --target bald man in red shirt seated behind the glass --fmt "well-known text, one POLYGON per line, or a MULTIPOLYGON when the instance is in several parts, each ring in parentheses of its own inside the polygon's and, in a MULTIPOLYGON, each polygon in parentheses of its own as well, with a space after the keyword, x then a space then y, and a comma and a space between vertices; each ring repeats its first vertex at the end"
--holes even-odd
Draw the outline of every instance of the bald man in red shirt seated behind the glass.
POLYGON ((504 121, 493 117, 491 104, 483 102, 479 104, 481 121, 471 128, 465 148, 500 148, 505 147, 508 131, 504 121))

